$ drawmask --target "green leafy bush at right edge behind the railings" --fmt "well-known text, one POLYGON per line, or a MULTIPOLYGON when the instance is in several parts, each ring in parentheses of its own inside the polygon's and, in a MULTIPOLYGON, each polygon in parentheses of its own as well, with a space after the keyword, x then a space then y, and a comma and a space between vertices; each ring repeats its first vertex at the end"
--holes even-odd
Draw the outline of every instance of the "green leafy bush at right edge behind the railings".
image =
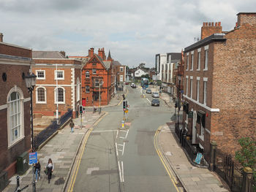
POLYGON ((241 150, 236 151, 235 158, 243 166, 249 166, 252 170, 256 169, 256 141, 249 137, 238 140, 241 150))

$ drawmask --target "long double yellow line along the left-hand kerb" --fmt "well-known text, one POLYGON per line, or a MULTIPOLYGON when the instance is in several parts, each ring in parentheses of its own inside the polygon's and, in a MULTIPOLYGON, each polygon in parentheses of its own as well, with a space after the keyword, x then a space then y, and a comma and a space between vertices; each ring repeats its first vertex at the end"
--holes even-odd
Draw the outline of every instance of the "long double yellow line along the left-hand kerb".
MULTIPOLYGON (((99 119, 94 123, 93 126, 96 126, 96 125, 99 123, 99 121, 102 120, 102 118, 104 118, 106 115, 108 115, 108 112, 105 112, 105 115, 103 115, 101 118, 99 118, 99 119)), ((70 184, 69 184, 69 189, 68 189, 69 192, 73 191, 73 189, 74 189, 75 180, 76 180, 77 175, 78 175, 78 170, 79 170, 80 162, 81 162, 81 159, 82 159, 82 156, 83 156, 83 152, 84 152, 84 149, 86 148, 87 140, 88 140, 88 138, 89 138, 89 136, 90 136, 90 134, 91 134, 91 131, 92 131, 93 129, 94 129, 94 127, 93 127, 93 128, 89 128, 89 131, 87 131, 86 137, 85 137, 85 139, 83 140, 82 150, 80 150, 80 153, 79 153, 79 155, 78 155, 78 161, 77 161, 77 163, 75 164, 75 169, 74 169, 75 172, 73 172, 72 178, 71 178, 71 181, 70 181, 70 184)))

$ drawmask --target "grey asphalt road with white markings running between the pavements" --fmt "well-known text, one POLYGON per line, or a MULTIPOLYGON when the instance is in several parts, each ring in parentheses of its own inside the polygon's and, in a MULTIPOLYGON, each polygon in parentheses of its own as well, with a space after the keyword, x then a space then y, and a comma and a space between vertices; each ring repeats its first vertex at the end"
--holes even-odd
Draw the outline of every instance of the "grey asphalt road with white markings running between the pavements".
POLYGON ((121 128, 122 106, 108 112, 88 131, 67 191, 178 191, 154 147, 157 128, 173 113, 164 101, 151 107, 151 96, 128 88, 129 114, 121 128))

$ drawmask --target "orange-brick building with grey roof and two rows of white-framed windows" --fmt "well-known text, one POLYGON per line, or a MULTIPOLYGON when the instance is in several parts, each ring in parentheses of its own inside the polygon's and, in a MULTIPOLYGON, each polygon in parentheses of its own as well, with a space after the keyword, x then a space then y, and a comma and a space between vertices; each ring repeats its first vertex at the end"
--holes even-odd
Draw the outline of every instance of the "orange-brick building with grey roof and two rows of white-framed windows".
POLYGON ((56 116, 59 118, 70 108, 73 116, 80 104, 80 76, 82 61, 66 58, 63 51, 33 51, 32 70, 37 75, 34 91, 34 115, 56 116))

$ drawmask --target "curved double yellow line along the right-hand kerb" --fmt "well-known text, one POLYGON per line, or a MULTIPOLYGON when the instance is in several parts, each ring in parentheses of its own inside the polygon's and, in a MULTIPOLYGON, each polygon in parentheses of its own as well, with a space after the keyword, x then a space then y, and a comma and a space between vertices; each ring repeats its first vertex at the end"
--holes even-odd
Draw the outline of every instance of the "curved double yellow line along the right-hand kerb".
POLYGON ((162 161, 162 164, 165 166, 165 170, 166 170, 167 174, 169 175, 170 180, 172 181, 176 190, 179 192, 179 190, 177 188, 178 181, 176 180, 173 173, 171 172, 170 166, 167 166, 167 162, 166 162, 165 158, 163 157, 162 153, 160 152, 159 146, 157 145, 157 137, 158 137, 159 132, 161 131, 161 129, 162 129, 162 126, 159 126, 159 128, 157 128, 156 133, 154 134, 154 148, 156 149, 157 154, 158 154, 160 160, 162 161))

